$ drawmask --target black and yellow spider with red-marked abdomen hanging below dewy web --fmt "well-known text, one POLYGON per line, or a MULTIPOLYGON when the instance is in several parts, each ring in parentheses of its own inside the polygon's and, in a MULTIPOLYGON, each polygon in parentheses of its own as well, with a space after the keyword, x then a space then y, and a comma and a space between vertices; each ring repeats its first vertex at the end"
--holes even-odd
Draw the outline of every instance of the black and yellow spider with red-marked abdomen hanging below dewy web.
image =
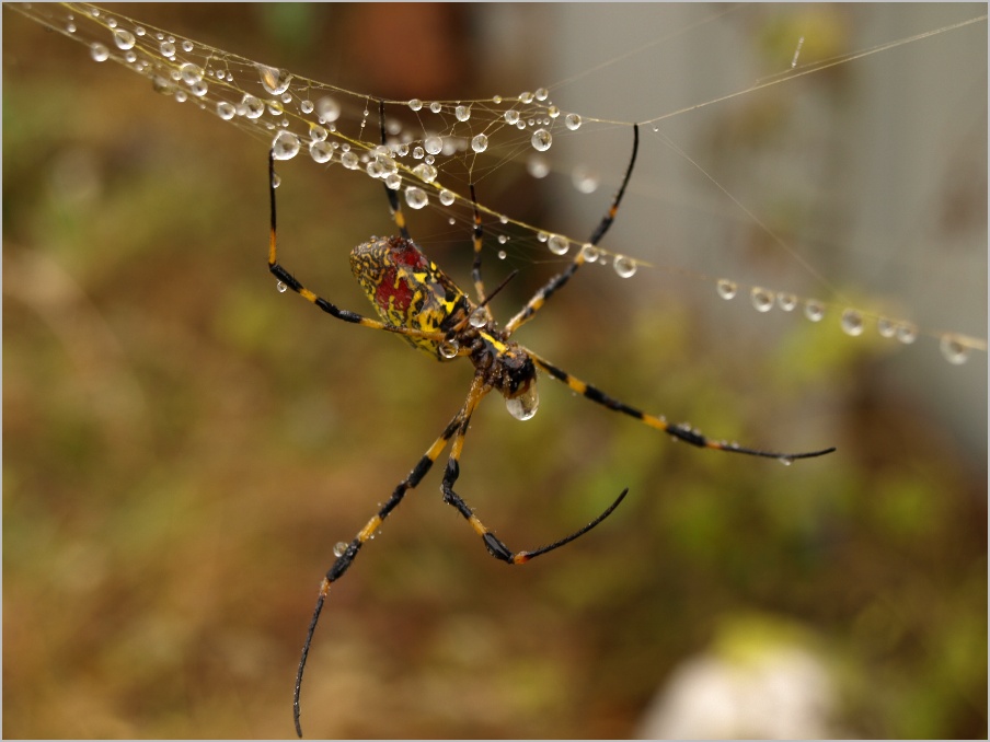
MULTIPOLYGON (((381 125, 381 140, 385 142, 384 131, 384 102, 379 102, 379 120, 381 125)), ((629 185, 633 166, 636 162, 636 153, 640 144, 638 126, 633 125, 633 150, 626 165, 625 174, 619 190, 612 199, 609 210, 602 217, 589 240, 591 245, 597 245, 605 233, 612 225, 619 205, 629 185)), ((491 392, 498 392, 505 397, 509 413, 521 420, 531 418, 539 404, 537 396, 537 371, 543 371, 557 381, 566 384, 575 393, 591 402, 613 409, 640 420, 675 439, 686 441, 692 445, 744 453, 751 456, 764 456, 791 462, 795 459, 810 459, 831 453, 834 448, 805 453, 771 453, 757 449, 744 448, 735 443, 724 443, 712 440, 698 430, 686 425, 671 425, 663 417, 649 415, 631 407, 609 396, 596 386, 573 376, 563 369, 554 366, 543 357, 534 353, 511 340, 513 334, 545 304, 556 291, 559 291, 574 276, 585 262, 583 251, 578 251, 573 262, 566 269, 551 278, 526 305, 500 328, 492 316, 488 302, 505 286, 503 282, 491 293, 485 292, 481 276, 482 251, 482 222, 477 210, 473 184, 470 186, 471 200, 474 209, 474 263, 472 266, 472 279, 477 294, 477 301, 472 301, 453 280, 447 276, 435 263, 431 263, 423 254, 419 247, 410 237, 405 227, 405 217, 399 205, 395 192, 385 186, 385 195, 392 218, 399 228, 398 236, 372 237, 354 248, 350 253, 350 268, 355 278, 361 285, 365 293, 375 304, 380 320, 372 320, 364 315, 339 309, 336 304, 324 299, 300 283, 286 268, 278 263, 277 239, 275 227, 275 156, 274 151, 268 153, 268 181, 269 197, 272 202, 272 229, 268 245, 268 269, 278 279, 278 288, 286 288, 299 293, 303 299, 312 302, 321 310, 337 320, 348 322, 372 329, 392 333, 406 340, 414 348, 433 356, 439 361, 454 358, 468 358, 474 366, 474 379, 468 390, 468 397, 458 409, 457 414, 448 422, 440 436, 430 444, 426 453, 416 463, 408 475, 399 483, 392 496, 380 507, 378 512, 358 531, 357 535, 346 547, 334 549, 336 560, 327 570, 320 584, 316 606, 312 619, 307 629, 302 653, 299 659, 299 668, 296 673, 296 688, 292 699, 292 717, 296 723, 296 733, 302 737, 300 723, 300 691, 302 686, 302 673, 306 669, 310 645, 316 629, 316 623, 323 611, 323 604, 330 592, 330 587, 336 582, 354 563, 361 546, 373 536, 382 522, 391 514, 395 507, 402 502, 405 494, 416 487, 440 454, 450 444, 450 454, 447 467, 444 471, 440 490, 444 502, 454 508, 474 532, 481 536, 482 542, 496 559, 509 565, 522 565, 527 561, 553 552, 575 538, 583 536, 596 525, 608 518, 619 503, 625 498, 629 488, 623 489, 619 497, 590 523, 578 529, 574 533, 553 542, 546 546, 533 550, 514 552, 500 538, 494 535, 474 514, 463 498, 453 490, 460 474, 460 457, 464 445, 464 436, 471 416, 479 403, 491 392)), ((506 282, 511 279, 509 276, 506 282)))

